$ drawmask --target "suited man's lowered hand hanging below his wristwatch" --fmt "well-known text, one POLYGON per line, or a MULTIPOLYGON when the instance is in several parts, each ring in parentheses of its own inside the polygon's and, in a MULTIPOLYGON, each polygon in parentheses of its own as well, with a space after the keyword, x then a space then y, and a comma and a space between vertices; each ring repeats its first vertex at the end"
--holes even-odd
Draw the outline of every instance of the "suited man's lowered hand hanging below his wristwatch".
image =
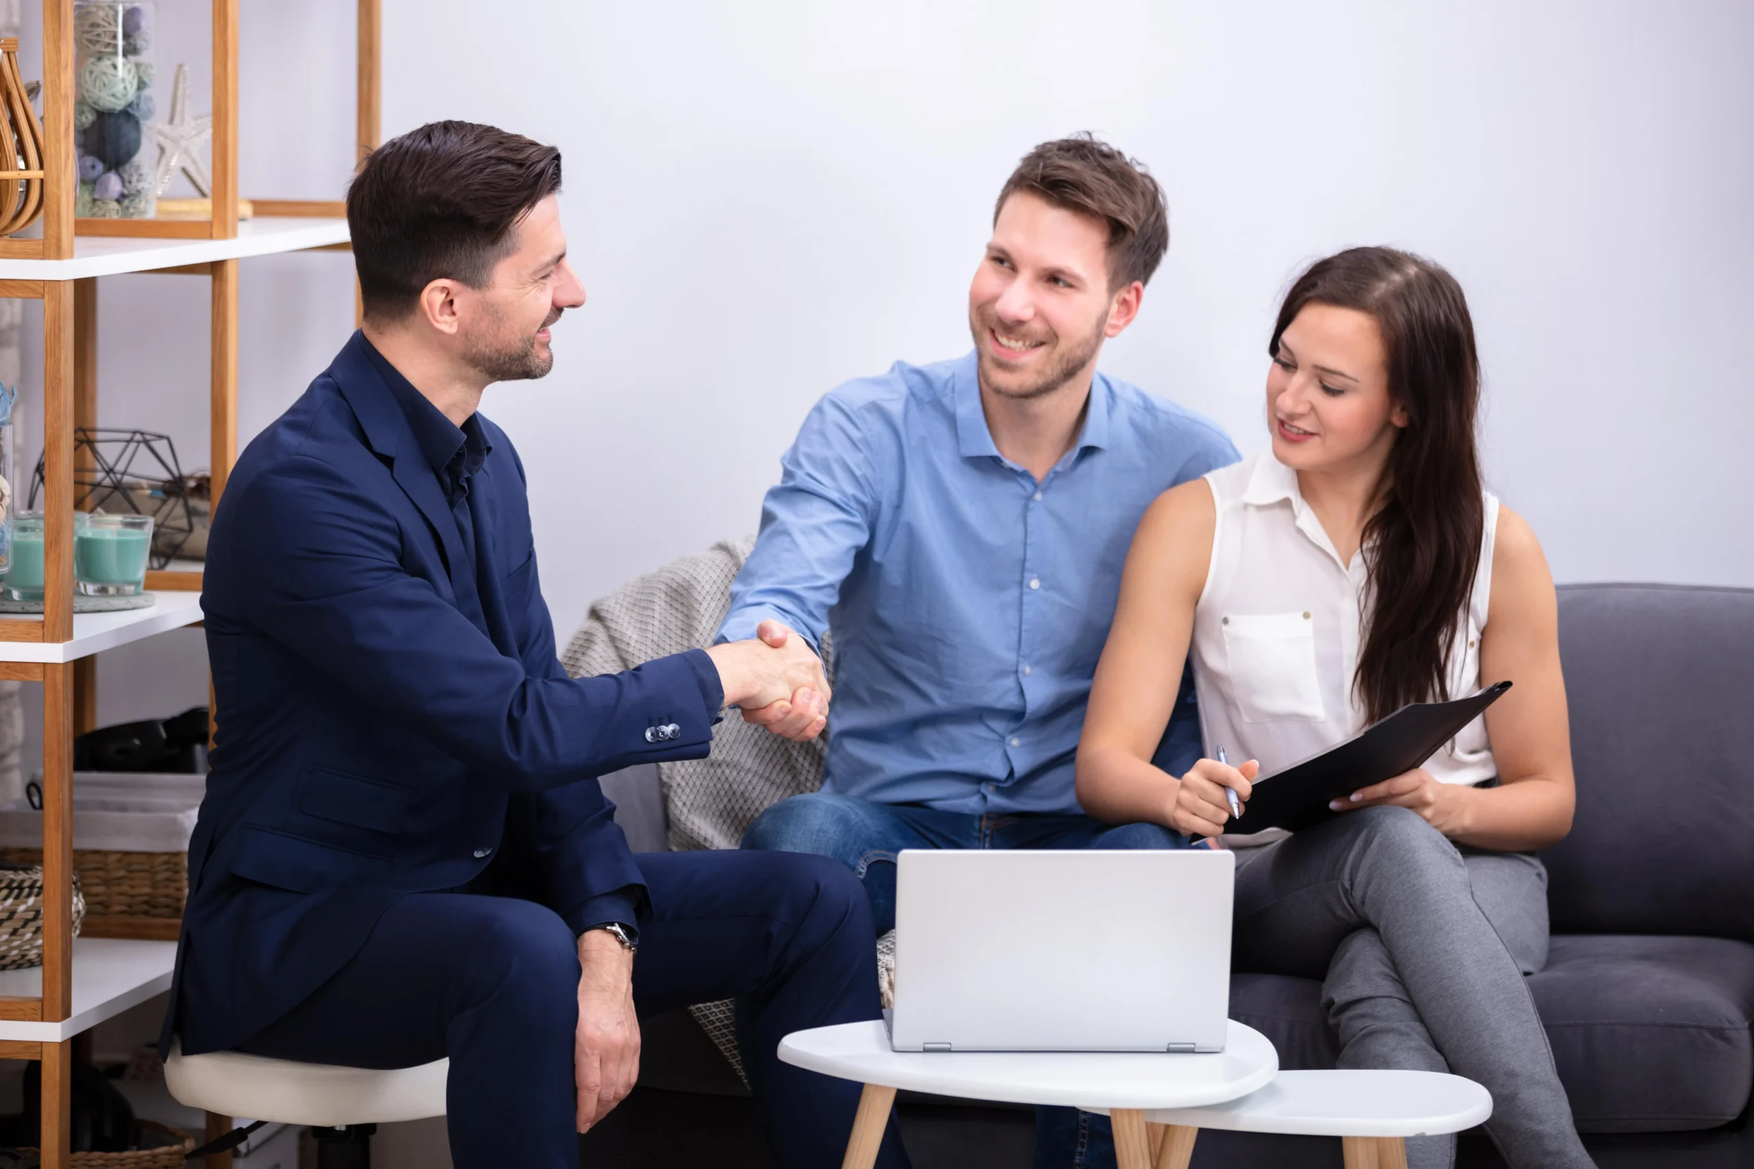
POLYGON ((640 1074, 640 1022, 633 1015, 633 953, 602 929, 579 934, 579 1031, 572 1069, 579 1132, 626 1099, 640 1074))

